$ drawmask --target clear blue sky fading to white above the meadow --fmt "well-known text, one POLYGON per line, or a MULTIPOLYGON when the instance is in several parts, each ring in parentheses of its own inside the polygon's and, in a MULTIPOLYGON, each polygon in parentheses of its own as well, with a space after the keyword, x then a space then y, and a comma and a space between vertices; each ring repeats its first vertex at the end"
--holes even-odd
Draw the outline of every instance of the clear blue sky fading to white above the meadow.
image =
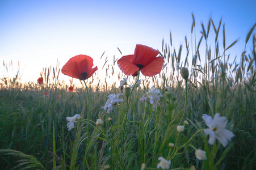
MULTIPOLYGON (((256 22, 256 1, 0 1, 0 60, 18 65, 22 79, 36 80, 43 67, 62 67, 69 58, 86 54, 95 59, 99 70, 100 56, 121 57, 133 54, 136 44, 162 48, 162 39, 173 45, 191 41, 191 13, 196 21, 199 40, 209 16, 215 25, 223 17, 226 46, 240 37, 228 53, 240 56, 246 33, 256 22), (123 55, 119 53, 117 47, 123 55)), ((211 35, 215 33, 211 28, 211 35)), ((220 31, 220 45, 222 27, 220 31)), ((209 43, 209 42, 208 42, 209 43)), ((212 49, 214 41, 211 42, 212 49)), ((183 47, 183 56, 185 48, 183 47)), ((184 59, 183 59, 184 61, 184 59)), ((6 71, 0 66, 0 76, 6 71)), ((65 78, 61 75, 60 78, 65 78)))

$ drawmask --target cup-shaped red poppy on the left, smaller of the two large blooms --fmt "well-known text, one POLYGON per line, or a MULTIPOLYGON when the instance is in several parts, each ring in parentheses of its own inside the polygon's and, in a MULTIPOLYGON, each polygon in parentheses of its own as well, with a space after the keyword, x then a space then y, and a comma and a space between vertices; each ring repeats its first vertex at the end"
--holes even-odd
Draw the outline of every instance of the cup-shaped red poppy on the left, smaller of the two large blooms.
POLYGON ((98 67, 93 68, 93 58, 86 55, 78 55, 69 59, 62 67, 61 72, 65 75, 86 80, 98 70, 98 67))

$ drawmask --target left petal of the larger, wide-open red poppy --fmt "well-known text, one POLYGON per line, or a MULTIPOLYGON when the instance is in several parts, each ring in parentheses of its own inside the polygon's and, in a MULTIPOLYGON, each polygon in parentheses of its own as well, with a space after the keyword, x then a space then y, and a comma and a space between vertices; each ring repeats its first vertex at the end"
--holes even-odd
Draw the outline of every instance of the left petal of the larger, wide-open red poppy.
POLYGON ((133 55, 123 56, 117 61, 117 65, 125 75, 133 75, 139 67, 132 63, 133 55))

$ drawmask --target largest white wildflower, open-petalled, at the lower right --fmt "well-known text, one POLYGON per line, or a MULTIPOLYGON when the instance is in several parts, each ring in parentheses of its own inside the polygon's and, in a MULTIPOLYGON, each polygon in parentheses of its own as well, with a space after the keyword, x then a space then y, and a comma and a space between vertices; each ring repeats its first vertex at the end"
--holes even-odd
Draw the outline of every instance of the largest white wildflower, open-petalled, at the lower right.
POLYGON ((209 128, 204 130, 204 133, 209 135, 208 143, 213 145, 215 143, 215 138, 217 138, 217 140, 226 147, 228 142, 234 137, 232 131, 225 129, 228 124, 226 117, 221 117, 220 113, 216 113, 213 119, 207 114, 203 114, 202 118, 209 128))

